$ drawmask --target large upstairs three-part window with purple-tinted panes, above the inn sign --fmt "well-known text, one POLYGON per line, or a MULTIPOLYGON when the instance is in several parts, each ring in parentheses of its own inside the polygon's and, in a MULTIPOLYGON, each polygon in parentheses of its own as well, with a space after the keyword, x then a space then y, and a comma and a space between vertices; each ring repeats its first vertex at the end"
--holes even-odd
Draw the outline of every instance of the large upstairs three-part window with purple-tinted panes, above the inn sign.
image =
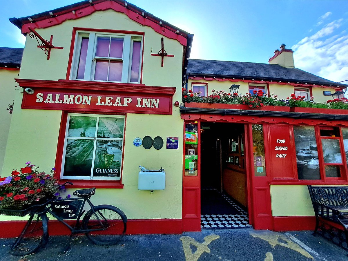
POLYGON ((142 36, 80 32, 72 79, 140 82, 142 36))

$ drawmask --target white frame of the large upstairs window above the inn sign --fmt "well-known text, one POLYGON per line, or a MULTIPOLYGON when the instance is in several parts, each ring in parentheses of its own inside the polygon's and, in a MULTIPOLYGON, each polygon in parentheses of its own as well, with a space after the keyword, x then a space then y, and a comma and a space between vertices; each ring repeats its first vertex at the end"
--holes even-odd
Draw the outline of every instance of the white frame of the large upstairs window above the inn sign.
POLYGON ((142 72, 142 52, 143 50, 143 35, 140 34, 122 34, 122 33, 106 33, 106 32, 92 32, 92 31, 78 31, 76 32, 76 40, 74 44, 72 69, 70 71, 70 79, 77 81, 102 81, 102 82, 123 82, 123 83, 140 83, 140 76, 142 72), (86 56, 86 65, 84 79, 77 79, 77 70, 80 60, 81 42, 83 37, 88 37, 88 47, 86 56), (97 38, 98 37, 116 37, 123 38, 123 52, 122 58, 105 58, 97 57, 97 38), (140 41, 140 60, 139 60, 139 78, 137 82, 130 82, 130 72, 132 69, 132 55, 133 55, 133 42, 140 41), (121 81, 107 81, 107 80, 94 80, 95 65, 97 60, 110 60, 110 61, 122 61, 122 74, 121 81))

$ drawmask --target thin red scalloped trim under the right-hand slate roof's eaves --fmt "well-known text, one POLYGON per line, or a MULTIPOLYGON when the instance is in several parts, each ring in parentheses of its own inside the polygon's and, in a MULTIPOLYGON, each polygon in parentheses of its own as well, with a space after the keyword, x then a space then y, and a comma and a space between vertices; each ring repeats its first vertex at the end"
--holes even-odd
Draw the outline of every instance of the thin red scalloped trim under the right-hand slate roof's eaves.
POLYGON ((318 87, 318 88, 328 88, 328 89, 335 89, 335 90, 343 90, 344 87, 335 87, 335 86, 322 86, 322 85, 315 85, 315 84, 300 84, 300 83, 295 83, 295 82, 279 82, 279 81, 258 81, 258 80, 242 80, 242 78, 236 78, 236 79, 228 79, 228 78, 209 78, 209 77, 189 77, 191 80, 199 81, 199 80, 205 80, 205 81, 231 81, 231 82, 251 82, 253 84, 280 84, 280 85, 292 85, 294 87, 299 87, 299 88, 309 88, 309 87, 318 87))

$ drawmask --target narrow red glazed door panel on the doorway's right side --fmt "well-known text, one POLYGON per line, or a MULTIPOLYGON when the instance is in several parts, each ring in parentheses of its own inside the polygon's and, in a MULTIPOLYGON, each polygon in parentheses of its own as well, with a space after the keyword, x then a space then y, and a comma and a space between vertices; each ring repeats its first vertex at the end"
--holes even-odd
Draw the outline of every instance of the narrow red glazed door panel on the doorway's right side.
POLYGON ((249 213, 255 229, 273 229, 270 195, 270 171, 266 164, 265 144, 267 144, 268 126, 249 124, 246 130, 248 137, 248 171, 251 180, 251 197, 249 213), (265 139, 266 138, 266 139, 265 139))

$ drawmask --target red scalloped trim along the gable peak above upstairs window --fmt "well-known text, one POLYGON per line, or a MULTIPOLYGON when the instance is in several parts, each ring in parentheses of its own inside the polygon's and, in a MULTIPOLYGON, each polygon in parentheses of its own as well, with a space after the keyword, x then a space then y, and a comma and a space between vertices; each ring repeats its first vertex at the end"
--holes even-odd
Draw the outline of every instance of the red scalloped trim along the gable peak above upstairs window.
POLYGON ((104 11, 112 9, 116 12, 124 13, 133 21, 140 23, 145 26, 151 27, 157 33, 164 35, 167 38, 175 39, 180 42, 180 44, 186 46, 187 45, 187 35, 181 33, 176 33, 176 29, 167 25, 159 25, 159 21, 155 20, 152 17, 142 16, 141 11, 128 6, 127 8, 124 6, 122 2, 116 1, 105 1, 105 0, 94 0, 93 5, 89 3, 85 3, 80 7, 74 7, 69 10, 64 10, 61 13, 54 14, 55 17, 40 17, 36 18, 39 20, 33 22, 26 22, 22 25, 22 33, 29 33, 29 27, 32 29, 36 28, 48 28, 57 24, 61 24, 66 20, 74 20, 80 17, 85 17, 90 14, 93 14, 95 11, 104 11), (72 11, 75 11, 75 14, 72 11), (139 13, 140 12, 140 13, 139 13), (53 20, 53 21, 52 21, 53 20))

